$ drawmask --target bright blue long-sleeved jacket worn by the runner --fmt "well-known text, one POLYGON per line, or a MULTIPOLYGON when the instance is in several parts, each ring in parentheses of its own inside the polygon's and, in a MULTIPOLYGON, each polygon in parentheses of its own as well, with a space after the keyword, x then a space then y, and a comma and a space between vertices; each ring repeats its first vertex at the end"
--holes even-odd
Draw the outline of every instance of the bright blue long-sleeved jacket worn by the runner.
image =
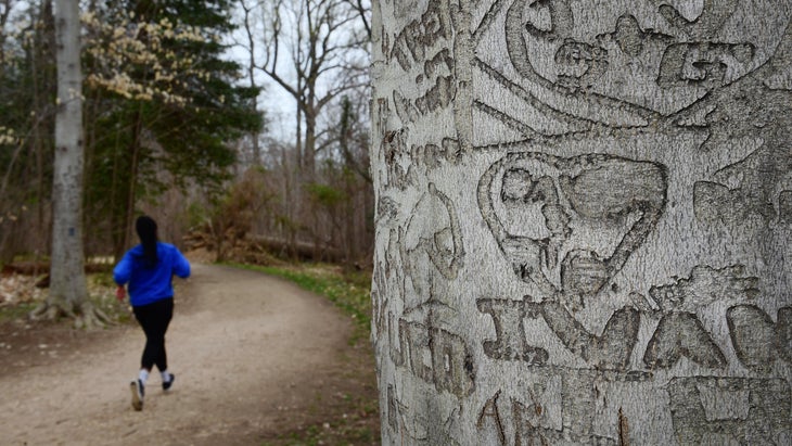
POLYGON ((190 263, 179 250, 168 243, 157 242, 157 264, 146 267, 143 245, 139 244, 124 254, 113 269, 113 279, 119 285, 129 283, 129 303, 133 307, 174 296, 174 275, 190 277, 190 263))

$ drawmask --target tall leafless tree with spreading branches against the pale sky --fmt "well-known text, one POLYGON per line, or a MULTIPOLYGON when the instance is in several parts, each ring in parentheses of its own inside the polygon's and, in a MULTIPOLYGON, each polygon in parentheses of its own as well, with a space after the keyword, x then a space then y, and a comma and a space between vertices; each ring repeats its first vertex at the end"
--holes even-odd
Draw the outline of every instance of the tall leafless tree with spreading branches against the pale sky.
POLYGON ((270 144, 279 152, 277 168, 290 169, 281 173, 283 199, 276 218, 292 252, 304 237, 318 249, 333 237, 315 208, 323 202, 314 192, 329 191, 321 186, 327 178, 317 171, 317 156, 332 156, 329 148, 338 142, 333 129, 338 116, 331 107, 343 93, 368 84, 368 34, 345 0, 265 0, 243 2, 240 10, 244 37, 238 46, 245 51, 250 78, 270 79, 295 105, 288 124, 294 140, 270 144))

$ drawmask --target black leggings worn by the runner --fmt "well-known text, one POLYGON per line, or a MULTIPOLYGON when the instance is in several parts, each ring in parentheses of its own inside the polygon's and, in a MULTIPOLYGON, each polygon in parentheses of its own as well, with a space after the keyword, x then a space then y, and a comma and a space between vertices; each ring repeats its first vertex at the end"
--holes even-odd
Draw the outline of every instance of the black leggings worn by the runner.
POLYGON ((132 308, 135 318, 145 333, 145 348, 140 359, 140 367, 151 370, 156 365, 159 371, 168 369, 168 356, 165 353, 165 332, 170 318, 174 317, 174 298, 163 298, 148 305, 132 308))

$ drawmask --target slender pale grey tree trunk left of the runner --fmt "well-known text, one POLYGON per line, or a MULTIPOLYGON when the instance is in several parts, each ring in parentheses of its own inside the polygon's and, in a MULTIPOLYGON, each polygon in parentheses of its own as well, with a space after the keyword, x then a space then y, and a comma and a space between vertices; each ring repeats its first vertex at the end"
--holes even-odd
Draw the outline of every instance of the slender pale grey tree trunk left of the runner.
POLYGON ((82 75, 77 0, 55 1, 55 29, 58 111, 50 305, 68 313, 88 297, 82 266, 82 75))

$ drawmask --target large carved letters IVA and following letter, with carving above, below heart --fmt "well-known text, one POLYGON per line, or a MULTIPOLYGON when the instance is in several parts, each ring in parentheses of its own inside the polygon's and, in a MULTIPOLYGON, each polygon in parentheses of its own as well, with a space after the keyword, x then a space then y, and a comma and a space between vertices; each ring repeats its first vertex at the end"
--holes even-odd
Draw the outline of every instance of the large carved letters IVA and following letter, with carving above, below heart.
POLYGON ((695 267, 689 278, 650 289, 657 310, 625 306, 610 316, 600 335, 590 333, 564 305, 553 300, 481 298, 476 304, 481 313, 491 317, 495 327, 496 339, 483 342, 484 353, 491 359, 534 366, 549 364, 547 348, 532 345, 524 330, 524 320, 541 318, 566 349, 592 369, 626 371, 638 341, 642 313, 644 317, 660 318, 643 352, 648 370, 670 368, 682 357, 703 367, 725 368, 728 361, 723 346, 697 311, 714 302, 743 303, 731 306, 724 315, 737 357, 746 367, 768 371, 776 358, 792 358, 792 307, 780 308, 774 323, 756 306, 744 304, 755 297, 757 286, 757 278, 746 277, 741 266, 695 267))

